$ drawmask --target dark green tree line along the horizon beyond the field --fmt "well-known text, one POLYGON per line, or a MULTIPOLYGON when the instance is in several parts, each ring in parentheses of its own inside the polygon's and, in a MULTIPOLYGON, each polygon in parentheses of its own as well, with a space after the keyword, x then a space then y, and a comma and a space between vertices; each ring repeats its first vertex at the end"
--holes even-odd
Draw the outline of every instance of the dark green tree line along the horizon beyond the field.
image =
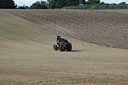
MULTIPOLYGON (((36 1, 29 6, 17 6, 14 0, 0 0, 1 9, 60 9, 66 6, 78 5, 108 5, 108 3, 100 2, 100 0, 47 0, 36 1)), ((125 2, 119 4, 113 3, 112 5, 128 5, 125 2)))

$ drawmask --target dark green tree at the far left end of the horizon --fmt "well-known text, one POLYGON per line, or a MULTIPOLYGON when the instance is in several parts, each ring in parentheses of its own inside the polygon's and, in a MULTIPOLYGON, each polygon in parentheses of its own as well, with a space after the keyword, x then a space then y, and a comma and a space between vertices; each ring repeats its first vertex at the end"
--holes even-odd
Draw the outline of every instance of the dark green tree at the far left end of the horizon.
POLYGON ((0 0, 0 8, 2 9, 14 9, 17 5, 13 0, 0 0))

